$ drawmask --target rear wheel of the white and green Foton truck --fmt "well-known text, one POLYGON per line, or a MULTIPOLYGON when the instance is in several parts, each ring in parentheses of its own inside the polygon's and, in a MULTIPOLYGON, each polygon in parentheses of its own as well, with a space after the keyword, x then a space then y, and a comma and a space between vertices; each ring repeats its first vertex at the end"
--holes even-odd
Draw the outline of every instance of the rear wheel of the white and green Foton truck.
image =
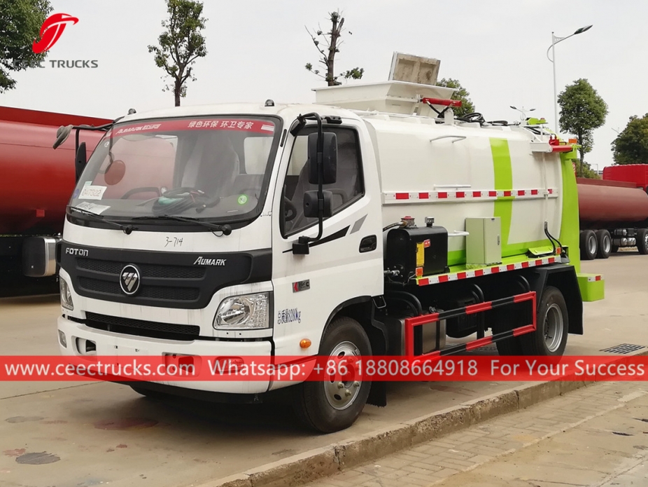
POLYGON ((520 336, 524 355, 561 356, 567 346, 569 313, 560 289, 547 286, 537 307, 537 329, 520 336))

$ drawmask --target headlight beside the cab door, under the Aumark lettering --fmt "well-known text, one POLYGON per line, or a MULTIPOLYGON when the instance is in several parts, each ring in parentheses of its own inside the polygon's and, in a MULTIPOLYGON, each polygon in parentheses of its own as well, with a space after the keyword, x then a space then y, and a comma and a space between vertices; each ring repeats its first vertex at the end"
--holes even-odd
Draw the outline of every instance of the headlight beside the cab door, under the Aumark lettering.
POLYGON ((269 327, 269 294, 246 294, 224 299, 213 320, 215 329, 260 329, 269 327))

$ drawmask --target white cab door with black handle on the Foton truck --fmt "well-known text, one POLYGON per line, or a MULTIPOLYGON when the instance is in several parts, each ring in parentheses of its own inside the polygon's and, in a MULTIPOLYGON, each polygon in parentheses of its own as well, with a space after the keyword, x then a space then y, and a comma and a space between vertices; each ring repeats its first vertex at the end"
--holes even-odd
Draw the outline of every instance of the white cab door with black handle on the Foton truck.
POLYGON ((308 180, 307 154, 316 130, 307 125, 288 140, 280 167, 273 211, 279 215, 273 219, 276 355, 316 354, 334 312, 383 292, 381 195, 371 141, 359 124, 324 125, 337 137, 337 179, 324 185, 332 192, 332 217, 308 254, 293 254, 294 242, 319 230, 318 219, 304 217, 303 209, 304 193, 317 189, 308 180), (312 343, 306 350, 304 338, 312 343))

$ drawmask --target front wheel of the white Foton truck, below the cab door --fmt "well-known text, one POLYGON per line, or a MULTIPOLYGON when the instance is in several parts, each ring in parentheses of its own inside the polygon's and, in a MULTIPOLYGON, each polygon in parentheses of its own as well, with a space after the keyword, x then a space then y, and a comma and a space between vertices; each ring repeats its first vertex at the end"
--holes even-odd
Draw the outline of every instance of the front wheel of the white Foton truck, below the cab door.
MULTIPOLYGON (((368 357, 372 349, 360 324, 346 316, 336 318, 322 338, 319 355, 368 357)), ((309 381, 295 386, 293 408, 307 427, 321 433, 344 430, 355 423, 367 403, 371 382, 309 381), (341 385, 341 387, 340 387, 341 385)))

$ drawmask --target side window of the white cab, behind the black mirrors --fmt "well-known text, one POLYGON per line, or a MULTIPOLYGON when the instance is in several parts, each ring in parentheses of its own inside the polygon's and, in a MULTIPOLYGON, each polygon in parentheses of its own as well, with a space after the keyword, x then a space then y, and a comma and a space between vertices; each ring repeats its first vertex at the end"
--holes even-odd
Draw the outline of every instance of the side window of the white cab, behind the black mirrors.
MULTIPOLYGON (((333 184, 325 184, 324 189, 331 191, 333 214, 343 210, 365 193, 362 180, 362 163, 358 133, 351 128, 326 127, 326 132, 334 132, 337 136, 337 178, 333 184)), ((317 184, 308 181, 308 135, 316 132, 316 128, 304 128, 295 137, 293 151, 290 154, 288 172, 283 184, 281 198, 282 219, 281 233, 283 236, 292 235, 317 223, 316 218, 304 217, 304 193, 317 190, 317 184)))

